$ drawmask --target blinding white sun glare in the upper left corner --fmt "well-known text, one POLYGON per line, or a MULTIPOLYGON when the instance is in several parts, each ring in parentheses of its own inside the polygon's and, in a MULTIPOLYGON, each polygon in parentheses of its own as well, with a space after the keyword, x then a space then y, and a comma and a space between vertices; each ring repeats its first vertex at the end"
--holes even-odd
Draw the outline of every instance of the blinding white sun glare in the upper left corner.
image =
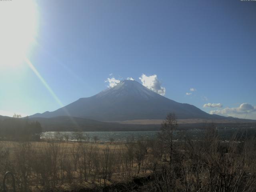
POLYGON ((37 34, 34 0, 2 1, 0 5, 0 67, 16 67, 29 53, 37 34))

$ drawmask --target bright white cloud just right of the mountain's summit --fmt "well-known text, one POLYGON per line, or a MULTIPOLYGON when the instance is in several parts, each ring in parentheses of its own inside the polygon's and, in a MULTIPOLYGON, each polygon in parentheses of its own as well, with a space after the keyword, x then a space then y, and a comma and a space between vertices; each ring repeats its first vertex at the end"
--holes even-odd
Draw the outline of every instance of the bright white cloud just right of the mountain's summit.
POLYGON ((146 76, 145 74, 142 74, 139 79, 141 80, 142 85, 146 88, 149 88, 160 95, 165 95, 165 88, 161 86, 156 75, 146 76))

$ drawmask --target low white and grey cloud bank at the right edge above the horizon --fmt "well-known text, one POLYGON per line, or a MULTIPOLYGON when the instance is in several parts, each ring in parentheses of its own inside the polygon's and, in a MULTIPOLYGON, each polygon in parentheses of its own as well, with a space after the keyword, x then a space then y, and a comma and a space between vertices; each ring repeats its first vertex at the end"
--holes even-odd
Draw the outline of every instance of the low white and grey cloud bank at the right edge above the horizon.
POLYGON ((233 116, 239 118, 256 118, 256 106, 248 103, 242 103, 239 107, 224 108, 222 110, 212 110, 210 114, 218 114, 224 116, 233 116))

